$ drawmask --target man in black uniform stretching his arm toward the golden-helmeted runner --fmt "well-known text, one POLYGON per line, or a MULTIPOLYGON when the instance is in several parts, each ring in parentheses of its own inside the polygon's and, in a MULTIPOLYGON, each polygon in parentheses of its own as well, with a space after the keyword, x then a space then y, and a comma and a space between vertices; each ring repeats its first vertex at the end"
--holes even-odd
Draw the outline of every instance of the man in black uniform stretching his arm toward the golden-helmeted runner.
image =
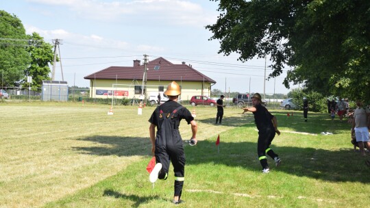
POLYGON ((270 148, 275 133, 280 135, 280 131, 277 130, 277 120, 263 105, 261 105, 261 95, 256 93, 252 96, 253 107, 243 108, 244 112, 252 112, 254 114, 254 120, 258 129, 258 143, 257 153, 260 164, 263 168, 262 173, 270 172, 269 165, 267 164, 266 154, 275 160, 275 165, 279 166, 281 159, 273 152, 270 148))

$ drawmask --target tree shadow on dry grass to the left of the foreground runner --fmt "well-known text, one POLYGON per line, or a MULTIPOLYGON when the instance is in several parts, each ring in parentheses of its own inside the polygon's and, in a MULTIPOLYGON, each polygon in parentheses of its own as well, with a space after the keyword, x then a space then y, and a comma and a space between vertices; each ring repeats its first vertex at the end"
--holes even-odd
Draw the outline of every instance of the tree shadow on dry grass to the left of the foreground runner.
POLYGON ((151 142, 148 138, 94 135, 88 138, 80 138, 77 140, 93 142, 97 144, 95 146, 72 147, 73 150, 88 155, 116 155, 121 157, 133 155, 149 155, 151 151, 151 142))

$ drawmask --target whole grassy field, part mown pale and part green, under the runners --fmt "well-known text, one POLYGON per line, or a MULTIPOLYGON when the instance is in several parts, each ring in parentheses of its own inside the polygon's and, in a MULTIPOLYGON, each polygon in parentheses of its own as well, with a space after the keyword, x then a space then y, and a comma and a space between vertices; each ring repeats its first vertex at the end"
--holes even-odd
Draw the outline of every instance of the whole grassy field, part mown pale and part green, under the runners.
MULTIPOLYGON (((193 111, 193 107, 188 107, 193 111)), ((149 116, 137 107, 90 103, 0 103, 0 207, 173 207, 173 173, 153 187, 149 116)), ((185 146, 181 207, 366 207, 370 168, 355 153, 346 122, 309 112, 273 111, 283 163, 261 174, 251 114, 195 107, 197 146, 185 146), (290 112, 291 113, 291 112, 290 112), (321 135, 329 131, 333 135, 321 135), (215 141, 220 135, 220 153, 215 141), (358 202, 358 199, 362 199, 358 202)), ((183 139, 190 126, 182 122, 183 139)))

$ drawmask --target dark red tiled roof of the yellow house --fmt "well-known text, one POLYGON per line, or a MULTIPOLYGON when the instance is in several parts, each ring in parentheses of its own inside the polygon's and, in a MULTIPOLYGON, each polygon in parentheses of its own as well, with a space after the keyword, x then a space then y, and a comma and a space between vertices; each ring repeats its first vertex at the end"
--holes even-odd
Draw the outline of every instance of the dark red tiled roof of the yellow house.
MULTIPOLYGON (((186 64, 172 64, 163 57, 147 63, 147 81, 167 80, 167 81, 206 81, 216 83, 210 77, 199 73, 191 66, 186 64), (159 66, 159 69, 154 69, 159 66)), ((85 79, 138 79, 143 80, 144 64, 140 66, 110 66, 97 73, 84 77, 85 79)))

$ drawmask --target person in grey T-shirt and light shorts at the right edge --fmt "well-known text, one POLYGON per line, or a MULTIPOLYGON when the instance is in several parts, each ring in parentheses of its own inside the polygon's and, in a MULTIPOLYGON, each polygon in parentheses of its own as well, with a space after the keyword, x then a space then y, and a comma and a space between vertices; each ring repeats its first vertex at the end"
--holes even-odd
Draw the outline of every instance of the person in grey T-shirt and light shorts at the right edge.
POLYGON ((354 112, 351 133, 355 133, 356 142, 358 142, 360 152, 362 156, 366 156, 365 145, 367 146, 367 149, 370 147, 369 129, 367 128, 367 118, 370 115, 370 111, 368 108, 362 107, 362 101, 356 101, 356 105, 357 108, 354 112))

